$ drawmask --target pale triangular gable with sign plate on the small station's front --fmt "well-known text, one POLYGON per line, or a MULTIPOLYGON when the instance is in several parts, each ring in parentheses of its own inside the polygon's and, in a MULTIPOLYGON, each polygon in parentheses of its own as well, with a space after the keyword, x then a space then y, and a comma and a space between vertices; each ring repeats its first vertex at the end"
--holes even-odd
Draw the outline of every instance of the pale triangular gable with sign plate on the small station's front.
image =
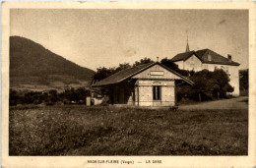
POLYGON ((181 80, 181 78, 159 64, 146 69, 145 71, 135 75, 132 79, 162 79, 162 80, 181 80))

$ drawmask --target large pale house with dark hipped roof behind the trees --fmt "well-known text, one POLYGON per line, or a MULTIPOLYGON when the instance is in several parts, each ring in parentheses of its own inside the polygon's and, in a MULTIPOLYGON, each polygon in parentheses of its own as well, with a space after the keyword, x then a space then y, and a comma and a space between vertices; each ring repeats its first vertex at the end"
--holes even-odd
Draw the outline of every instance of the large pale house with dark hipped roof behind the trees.
MULTIPOLYGON (((188 44, 187 44, 188 46, 188 44)), ((210 49, 202 49, 198 51, 188 51, 175 55, 171 61, 178 65, 182 70, 202 71, 207 69, 215 71, 215 69, 223 69, 229 76, 229 84, 234 87, 232 95, 239 95, 239 63, 232 61, 231 55, 224 57, 210 49)))

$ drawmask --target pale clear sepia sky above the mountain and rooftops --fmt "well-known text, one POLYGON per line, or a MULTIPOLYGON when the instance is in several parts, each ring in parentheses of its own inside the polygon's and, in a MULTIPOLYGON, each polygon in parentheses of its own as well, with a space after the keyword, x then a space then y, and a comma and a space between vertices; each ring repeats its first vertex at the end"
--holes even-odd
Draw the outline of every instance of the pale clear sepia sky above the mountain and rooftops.
POLYGON ((246 10, 12 9, 10 35, 23 36, 96 71, 209 48, 248 68, 246 10))

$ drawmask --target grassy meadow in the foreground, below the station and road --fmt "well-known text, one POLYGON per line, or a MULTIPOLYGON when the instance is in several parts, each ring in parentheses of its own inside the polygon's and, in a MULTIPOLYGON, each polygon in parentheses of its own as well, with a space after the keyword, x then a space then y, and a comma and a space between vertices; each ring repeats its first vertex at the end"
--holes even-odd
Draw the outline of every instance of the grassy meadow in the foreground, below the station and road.
POLYGON ((248 111, 10 109, 10 155, 247 155, 248 111))

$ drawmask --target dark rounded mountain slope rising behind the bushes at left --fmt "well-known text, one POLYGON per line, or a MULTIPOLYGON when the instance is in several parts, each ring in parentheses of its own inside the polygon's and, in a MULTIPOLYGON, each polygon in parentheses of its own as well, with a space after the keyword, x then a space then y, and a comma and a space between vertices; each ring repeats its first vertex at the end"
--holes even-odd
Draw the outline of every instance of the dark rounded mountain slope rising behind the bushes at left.
MULTIPOLYGON (((60 43, 61 45, 61 43, 60 43)), ((31 39, 10 37, 10 83, 63 86, 90 84, 95 72, 49 51, 31 39)))

